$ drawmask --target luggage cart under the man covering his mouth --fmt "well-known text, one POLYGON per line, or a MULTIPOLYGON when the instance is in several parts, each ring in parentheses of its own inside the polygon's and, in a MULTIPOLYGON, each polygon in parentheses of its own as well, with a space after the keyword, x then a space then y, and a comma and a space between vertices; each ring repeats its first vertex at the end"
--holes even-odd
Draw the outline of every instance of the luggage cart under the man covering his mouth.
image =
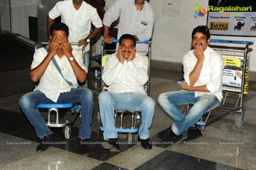
MULTIPOLYGON (((242 126, 244 116, 243 99, 248 91, 248 59, 249 52, 252 50, 249 48, 250 45, 253 45, 253 42, 211 39, 209 46, 224 59, 224 98, 221 105, 215 109, 222 112, 222 114, 209 119, 206 122, 207 125, 230 113, 236 113, 235 124, 237 127, 242 126)), ((209 116, 207 116, 208 118, 209 116)))

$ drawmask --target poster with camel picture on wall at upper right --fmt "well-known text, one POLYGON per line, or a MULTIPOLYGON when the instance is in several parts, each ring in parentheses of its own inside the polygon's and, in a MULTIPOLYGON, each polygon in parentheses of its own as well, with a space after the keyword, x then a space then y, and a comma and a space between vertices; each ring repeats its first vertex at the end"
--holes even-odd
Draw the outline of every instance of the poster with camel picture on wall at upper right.
POLYGON ((209 0, 212 35, 256 37, 256 0, 209 0))

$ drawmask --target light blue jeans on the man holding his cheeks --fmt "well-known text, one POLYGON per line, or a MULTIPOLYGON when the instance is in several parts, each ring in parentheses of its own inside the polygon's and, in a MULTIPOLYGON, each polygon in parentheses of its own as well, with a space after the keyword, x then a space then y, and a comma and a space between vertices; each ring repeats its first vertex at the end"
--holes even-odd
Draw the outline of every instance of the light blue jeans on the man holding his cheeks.
POLYGON ((98 96, 102 125, 104 127, 104 139, 117 138, 114 123, 114 110, 119 111, 141 111, 142 124, 139 127, 140 139, 148 139, 149 130, 154 116, 154 99, 145 94, 124 93, 114 94, 102 92, 98 96))

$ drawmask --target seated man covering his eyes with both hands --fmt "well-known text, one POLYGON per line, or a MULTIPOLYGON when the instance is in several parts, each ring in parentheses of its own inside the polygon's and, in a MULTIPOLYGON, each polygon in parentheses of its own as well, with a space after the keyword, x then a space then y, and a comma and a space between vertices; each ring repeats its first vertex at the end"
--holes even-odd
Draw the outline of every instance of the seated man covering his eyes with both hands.
POLYGON ((84 140, 90 139, 93 110, 93 94, 88 88, 78 88, 78 81, 85 82, 87 69, 81 56, 73 52, 68 42, 68 27, 63 23, 54 23, 49 29, 49 48, 38 48, 35 52, 30 77, 38 82, 33 92, 20 98, 20 108, 35 128, 42 144, 38 150, 48 148, 47 141, 52 140, 53 133, 46 125, 36 105, 41 103, 73 103, 82 108, 79 130, 79 151, 88 152, 84 140), (55 62, 55 64, 54 64, 55 62), (61 70, 58 71, 57 66, 61 70))

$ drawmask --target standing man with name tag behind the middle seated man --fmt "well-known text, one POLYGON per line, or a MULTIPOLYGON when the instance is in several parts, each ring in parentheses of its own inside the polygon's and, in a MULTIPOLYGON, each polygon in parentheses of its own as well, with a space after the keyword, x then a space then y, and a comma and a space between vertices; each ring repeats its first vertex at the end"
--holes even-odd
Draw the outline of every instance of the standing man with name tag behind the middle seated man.
MULTIPOLYGON (((104 14, 104 38, 112 43, 109 28, 119 19, 118 38, 123 34, 131 34, 136 40, 145 41, 152 37, 154 27, 154 12, 145 0, 116 0, 104 14)), ((148 51, 147 44, 137 44, 137 52, 148 51)))

